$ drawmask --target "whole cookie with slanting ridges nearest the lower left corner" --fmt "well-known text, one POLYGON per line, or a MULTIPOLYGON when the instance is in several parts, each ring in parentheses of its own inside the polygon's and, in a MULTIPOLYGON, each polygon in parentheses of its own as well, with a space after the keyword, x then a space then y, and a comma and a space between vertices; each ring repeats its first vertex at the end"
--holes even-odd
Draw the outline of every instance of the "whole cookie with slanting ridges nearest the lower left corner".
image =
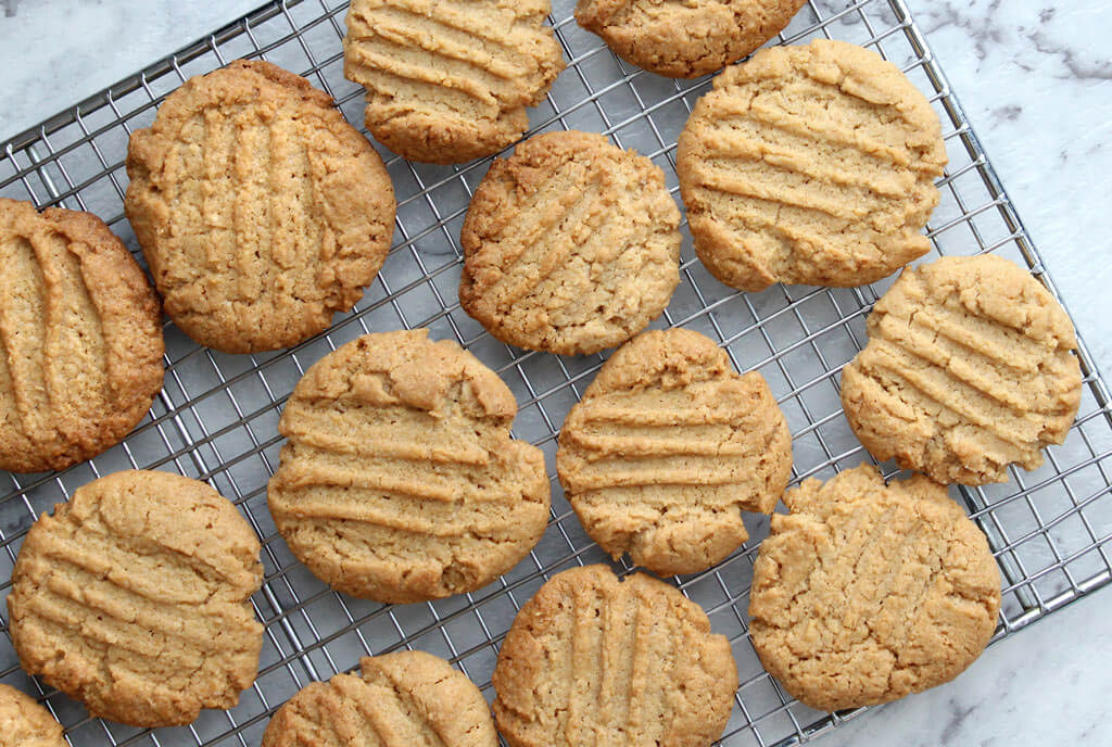
POLYGON ((128 470, 73 491, 31 527, 8 595, 28 674, 132 726, 231 708, 255 681, 259 540, 203 482, 128 470))

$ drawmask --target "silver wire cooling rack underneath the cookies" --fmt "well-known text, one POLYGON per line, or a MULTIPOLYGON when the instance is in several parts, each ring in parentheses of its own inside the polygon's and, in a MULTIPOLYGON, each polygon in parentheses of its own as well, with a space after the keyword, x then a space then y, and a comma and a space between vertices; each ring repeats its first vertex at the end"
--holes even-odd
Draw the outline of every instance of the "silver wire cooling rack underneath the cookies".
MULTIPOLYGON (((535 131, 600 131, 659 165, 677 193, 675 142, 708 80, 672 81, 629 67, 572 18, 557 0, 553 26, 569 62, 547 100, 530 112, 535 131)), ((239 57, 261 57, 307 76, 361 122, 361 89, 342 76, 340 38, 347 3, 271 2, 2 146, 0 196, 91 210, 137 250, 122 215, 128 133, 148 126, 159 101, 186 78, 239 57)), ((833 37, 881 52, 927 93, 943 121, 950 167, 942 203, 927 228, 941 253, 996 252, 1029 266, 1052 291, 1035 252, 903 0, 808 0, 776 42, 833 37)), ((456 300, 459 228, 488 161, 459 167, 409 163, 383 151, 398 193, 395 245, 356 309, 327 333, 270 355, 227 356, 199 348, 166 326, 166 388, 150 416, 119 447, 60 474, 3 475, 0 481, 0 578, 10 578, 33 518, 75 488, 115 470, 156 468, 208 480, 234 499, 262 539, 266 580, 254 598, 266 624, 259 676, 230 711, 206 711, 193 725, 143 731, 90 719, 64 696, 18 666, 0 636, 0 681, 38 693, 73 745, 257 745, 269 715, 297 689, 351 669, 358 657, 401 647, 449 658, 489 698, 497 647, 519 605, 553 572, 605 560, 584 535, 555 480, 555 439, 569 407, 602 358, 560 358, 502 345, 456 300), (514 434, 539 446, 553 476, 553 517, 537 548, 512 572, 474 594, 390 607, 338 595, 297 564, 266 509, 277 466, 279 411, 301 372, 337 346, 371 330, 429 327, 459 340, 509 384, 520 404, 514 434)), ((686 230, 686 229, 685 229, 686 230)), ((841 411, 838 371, 864 343, 865 317, 891 282, 860 289, 776 286, 738 293, 694 258, 689 237, 682 283, 659 325, 697 329, 729 352, 738 370, 768 380, 794 434, 794 480, 828 478, 868 455, 841 411)), ((1056 291, 1055 291, 1056 292, 1056 291)), ((1082 345, 1085 391, 1066 442, 1034 472, 1005 485, 961 489, 989 535, 1004 578, 996 639, 1011 635, 1112 579, 1112 407, 1082 345)), ((891 465, 886 466, 893 472, 891 465)), ((957 492, 955 491, 955 496, 957 492)), ((742 686, 723 744, 797 744, 861 713, 825 715, 793 701, 761 668, 747 637, 747 594, 767 520, 749 520, 753 538, 718 567, 676 579, 729 636, 742 686)), ((626 567, 625 570, 628 570, 626 567)), ((0 586, 7 595, 9 581, 0 586)), ((7 611, 3 628, 7 634, 7 611)))

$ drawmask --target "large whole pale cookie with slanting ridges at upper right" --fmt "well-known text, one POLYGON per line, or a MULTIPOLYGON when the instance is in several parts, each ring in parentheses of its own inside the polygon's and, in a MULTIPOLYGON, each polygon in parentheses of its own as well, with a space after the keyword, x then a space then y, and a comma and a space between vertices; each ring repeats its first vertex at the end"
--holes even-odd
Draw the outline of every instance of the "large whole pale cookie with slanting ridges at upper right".
POLYGON ((722 72, 679 136, 695 250, 722 282, 874 282, 930 249, 946 150, 900 69, 843 41, 774 47, 722 72))

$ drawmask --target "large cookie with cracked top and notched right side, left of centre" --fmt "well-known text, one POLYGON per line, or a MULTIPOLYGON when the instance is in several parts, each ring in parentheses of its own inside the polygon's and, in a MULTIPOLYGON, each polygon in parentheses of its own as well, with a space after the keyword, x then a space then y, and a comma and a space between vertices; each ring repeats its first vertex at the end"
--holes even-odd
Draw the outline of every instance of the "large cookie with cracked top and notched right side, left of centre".
POLYGON ((286 404, 267 499, 294 555, 355 597, 413 602, 513 568, 548 522, 540 449, 512 440, 509 388, 428 330, 366 335, 286 404))

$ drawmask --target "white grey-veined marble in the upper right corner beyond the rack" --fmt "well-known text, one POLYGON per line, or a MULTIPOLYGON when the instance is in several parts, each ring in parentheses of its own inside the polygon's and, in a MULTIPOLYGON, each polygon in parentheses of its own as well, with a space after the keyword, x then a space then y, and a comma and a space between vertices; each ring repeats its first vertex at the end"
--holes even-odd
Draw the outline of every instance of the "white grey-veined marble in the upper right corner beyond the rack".
POLYGON ((910 4, 1102 370, 1112 370, 1112 262, 1100 261, 1112 233, 1112 3, 910 4))

